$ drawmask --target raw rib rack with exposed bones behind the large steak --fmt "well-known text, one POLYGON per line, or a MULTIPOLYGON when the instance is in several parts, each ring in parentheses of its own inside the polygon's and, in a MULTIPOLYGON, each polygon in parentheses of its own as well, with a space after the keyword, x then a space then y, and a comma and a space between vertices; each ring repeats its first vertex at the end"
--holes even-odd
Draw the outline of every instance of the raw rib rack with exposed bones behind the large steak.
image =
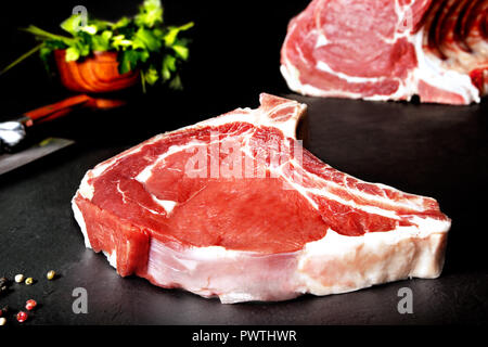
POLYGON ((313 0, 281 72, 301 94, 470 104, 488 93, 488 0, 313 0))

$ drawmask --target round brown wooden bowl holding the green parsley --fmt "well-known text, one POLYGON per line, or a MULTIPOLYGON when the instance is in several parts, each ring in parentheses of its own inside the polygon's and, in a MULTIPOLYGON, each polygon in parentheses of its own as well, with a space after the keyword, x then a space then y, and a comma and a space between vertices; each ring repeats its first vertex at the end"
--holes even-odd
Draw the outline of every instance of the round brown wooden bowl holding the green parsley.
POLYGON ((54 51, 61 82, 69 90, 107 93, 129 88, 139 81, 139 72, 118 73, 116 52, 94 52, 76 62, 66 62, 65 55, 66 50, 54 51))

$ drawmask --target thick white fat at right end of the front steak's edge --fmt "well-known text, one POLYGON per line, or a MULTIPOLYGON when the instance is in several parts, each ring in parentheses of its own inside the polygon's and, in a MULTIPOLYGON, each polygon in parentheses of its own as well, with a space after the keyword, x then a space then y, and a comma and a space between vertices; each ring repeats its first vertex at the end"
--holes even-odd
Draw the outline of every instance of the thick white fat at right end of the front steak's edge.
POLYGON ((450 222, 426 220, 425 226, 399 227, 362 236, 345 236, 328 230, 325 237, 306 245, 297 272, 307 292, 314 295, 347 293, 409 278, 437 278, 444 265, 442 248, 450 222), (370 256, 380 260, 368 265, 370 256), (307 269, 310 261, 323 265, 325 274, 310 273, 307 269), (334 271, 328 266, 341 269, 330 280, 328 273, 334 271))

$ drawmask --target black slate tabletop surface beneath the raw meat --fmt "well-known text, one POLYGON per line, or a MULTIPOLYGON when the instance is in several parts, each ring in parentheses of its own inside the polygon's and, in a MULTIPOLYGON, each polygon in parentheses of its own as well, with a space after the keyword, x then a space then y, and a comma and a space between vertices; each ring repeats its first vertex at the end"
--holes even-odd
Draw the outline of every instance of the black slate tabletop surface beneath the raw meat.
MULTIPOLYGON (((209 116, 197 113, 198 97, 180 94, 169 108, 179 110, 178 119, 152 121, 149 110, 156 110, 159 98, 147 97, 150 108, 141 114, 134 101, 60 120, 49 133, 70 136, 76 146, 0 177, 0 271, 37 280, 33 286, 14 284, 0 306, 21 308, 30 297, 41 303, 24 324, 486 324, 488 103, 457 107, 288 97, 309 105, 306 146, 318 157, 358 178, 439 201, 453 220, 439 279, 284 303, 222 305, 120 278, 103 255, 85 248, 69 202, 84 174, 99 162, 151 134, 209 116), (134 115, 138 121, 131 124, 134 115), (107 136, 114 123, 117 134, 107 136), (50 269, 61 277, 47 281, 50 269), (87 290, 87 314, 72 310, 76 287, 87 290), (412 314, 397 310, 401 287, 413 292, 412 314)), ((257 98, 239 98, 234 106, 257 106, 257 98)), ((223 111, 216 101, 215 114, 223 111)))

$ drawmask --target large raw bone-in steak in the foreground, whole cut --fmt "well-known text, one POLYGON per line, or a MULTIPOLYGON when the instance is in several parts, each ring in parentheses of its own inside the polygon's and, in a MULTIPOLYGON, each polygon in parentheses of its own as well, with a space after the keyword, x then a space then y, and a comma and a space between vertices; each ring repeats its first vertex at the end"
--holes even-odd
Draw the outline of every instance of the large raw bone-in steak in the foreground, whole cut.
POLYGON ((222 303, 438 277, 450 220, 437 202, 322 163, 296 140, 305 113, 261 94, 99 164, 73 200, 87 247, 123 277, 222 303))

